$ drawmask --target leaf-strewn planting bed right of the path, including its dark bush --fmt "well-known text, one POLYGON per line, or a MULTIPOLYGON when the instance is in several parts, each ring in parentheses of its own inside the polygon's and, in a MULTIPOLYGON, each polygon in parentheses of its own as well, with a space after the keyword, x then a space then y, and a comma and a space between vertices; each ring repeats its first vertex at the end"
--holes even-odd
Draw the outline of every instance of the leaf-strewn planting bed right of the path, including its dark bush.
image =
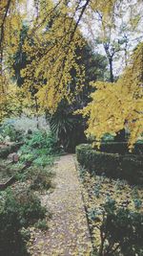
POLYGON ((79 168, 95 256, 143 255, 143 187, 79 168))

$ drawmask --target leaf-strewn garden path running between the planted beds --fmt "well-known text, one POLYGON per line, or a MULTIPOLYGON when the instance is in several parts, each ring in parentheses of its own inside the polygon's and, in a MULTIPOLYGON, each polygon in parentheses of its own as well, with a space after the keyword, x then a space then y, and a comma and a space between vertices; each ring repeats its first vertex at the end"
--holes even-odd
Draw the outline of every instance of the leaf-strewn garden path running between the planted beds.
POLYGON ((92 243, 72 154, 55 165, 55 189, 44 204, 52 213, 49 230, 36 236, 34 256, 90 256, 92 243))

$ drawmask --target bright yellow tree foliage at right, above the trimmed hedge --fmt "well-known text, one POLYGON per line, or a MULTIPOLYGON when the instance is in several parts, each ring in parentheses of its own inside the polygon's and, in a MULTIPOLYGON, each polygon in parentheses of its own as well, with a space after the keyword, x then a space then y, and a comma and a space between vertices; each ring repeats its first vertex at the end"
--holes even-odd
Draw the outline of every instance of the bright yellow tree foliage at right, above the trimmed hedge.
POLYGON ((96 88, 92 102, 80 113, 88 116, 87 134, 98 145, 105 133, 115 135, 122 128, 130 130, 129 147, 143 132, 143 43, 133 53, 130 65, 116 82, 92 82, 96 88))

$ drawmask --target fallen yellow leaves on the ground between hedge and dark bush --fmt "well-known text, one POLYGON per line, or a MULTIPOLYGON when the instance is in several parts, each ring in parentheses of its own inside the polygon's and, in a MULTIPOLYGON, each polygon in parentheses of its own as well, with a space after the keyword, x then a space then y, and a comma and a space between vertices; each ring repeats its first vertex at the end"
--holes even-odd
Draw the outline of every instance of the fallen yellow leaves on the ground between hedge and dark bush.
MULTIPOLYGON (((128 183, 126 184, 125 182, 119 180, 113 180, 98 175, 91 176, 88 172, 85 173, 82 182, 82 195, 88 213, 91 213, 92 210, 96 210, 96 213, 98 212, 98 221, 96 218, 96 221, 90 219, 90 222, 92 227, 92 243, 99 252, 99 248, 101 247, 101 234, 99 228, 103 224, 102 208, 104 203, 106 202, 107 198, 110 197, 116 201, 117 207, 121 207, 123 202, 125 202, 128 198, 128 208, 135 211, 133 187, 128 183)), ((137 188, 137 186, 134 186, 134 192, 135 195, 138 195, 138 199, 142 201, 142 189, 140 190, 137 188)), ((139 212, 142 212, 142 208, 140 208, 139 212)), ((90 215, 88 216, 90 217, 90 215)))

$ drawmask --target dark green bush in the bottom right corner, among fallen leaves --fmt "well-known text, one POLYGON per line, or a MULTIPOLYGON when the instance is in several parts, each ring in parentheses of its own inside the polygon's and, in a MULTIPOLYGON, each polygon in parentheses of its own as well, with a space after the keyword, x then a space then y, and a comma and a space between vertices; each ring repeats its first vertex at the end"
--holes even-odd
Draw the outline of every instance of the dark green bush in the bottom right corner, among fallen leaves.
POLYGON ((128 208, 116 207, 109 198, 102 210, 92 210, 89 215, 100 230, 99 256, 142 256, 143 214, 128 208), (101 224, 98 225, 98 222, 101 224))

